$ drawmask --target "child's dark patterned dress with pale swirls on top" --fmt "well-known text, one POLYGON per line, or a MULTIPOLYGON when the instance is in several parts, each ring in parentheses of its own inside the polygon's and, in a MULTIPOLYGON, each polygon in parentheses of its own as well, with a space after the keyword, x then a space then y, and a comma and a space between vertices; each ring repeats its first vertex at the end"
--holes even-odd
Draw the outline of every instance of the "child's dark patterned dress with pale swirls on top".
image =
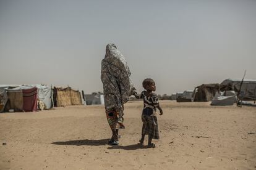
POLYGON ((158 132, 158 122, 156 118, 156 107, 159 105, 158 97, 155 93, 147 94, 143 91, 140 94, 144 107, 142 111, 142 135, 148 135, 152 139, 160 139, 158 132))

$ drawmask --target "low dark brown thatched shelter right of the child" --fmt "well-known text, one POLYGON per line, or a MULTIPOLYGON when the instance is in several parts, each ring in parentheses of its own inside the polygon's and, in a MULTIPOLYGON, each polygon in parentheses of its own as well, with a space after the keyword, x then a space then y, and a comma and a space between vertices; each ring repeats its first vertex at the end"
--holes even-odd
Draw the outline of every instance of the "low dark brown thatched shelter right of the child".
POLYGON ((194 89, 193 101, 194 102, 208 102, 213 99, 216 92, 224 91, 228 89, 226 84, 202 84, 194 89))

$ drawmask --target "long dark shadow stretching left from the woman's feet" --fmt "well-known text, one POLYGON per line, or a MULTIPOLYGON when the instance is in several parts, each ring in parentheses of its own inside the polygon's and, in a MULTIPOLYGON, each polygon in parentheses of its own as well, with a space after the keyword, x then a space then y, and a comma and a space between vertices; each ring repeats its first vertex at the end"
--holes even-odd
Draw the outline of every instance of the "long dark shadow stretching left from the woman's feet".
POLYGON ((81 146, 81 145, 100 146, 100 145, 108 145, 108 140, 109 140, 109 139, 99 139, 99 140, 90 140, 90 139, 85 139, 85 140, 69 140, 69 141, 64 141, 64 142, 53 142, 53 143, 51 143, 51 144, 54 144, 54 145, 76 145, 76 146, 81 146))

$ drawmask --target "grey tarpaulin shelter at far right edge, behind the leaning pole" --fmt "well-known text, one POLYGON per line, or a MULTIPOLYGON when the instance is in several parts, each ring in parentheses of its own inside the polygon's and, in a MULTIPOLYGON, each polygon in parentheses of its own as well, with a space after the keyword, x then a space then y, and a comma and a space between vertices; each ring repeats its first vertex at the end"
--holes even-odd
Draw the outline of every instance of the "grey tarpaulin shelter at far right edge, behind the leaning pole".
MULTIPOLYGON (((241 79, 225 79, 221 84, 231 86, 235 92, 238 92, 241 81, 241 79)), ((256 79, 244 79, 240 94, 242 100, 256 100, 256 79)))

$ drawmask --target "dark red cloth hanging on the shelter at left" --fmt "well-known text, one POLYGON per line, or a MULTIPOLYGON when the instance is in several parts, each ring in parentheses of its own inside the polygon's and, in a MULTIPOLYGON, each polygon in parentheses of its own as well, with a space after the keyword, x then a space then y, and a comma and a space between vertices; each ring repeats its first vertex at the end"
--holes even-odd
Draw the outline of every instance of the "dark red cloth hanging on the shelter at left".
POLYGON ((37 108, 37 88, 23 89, 23 111, 36 111, 37 108))

